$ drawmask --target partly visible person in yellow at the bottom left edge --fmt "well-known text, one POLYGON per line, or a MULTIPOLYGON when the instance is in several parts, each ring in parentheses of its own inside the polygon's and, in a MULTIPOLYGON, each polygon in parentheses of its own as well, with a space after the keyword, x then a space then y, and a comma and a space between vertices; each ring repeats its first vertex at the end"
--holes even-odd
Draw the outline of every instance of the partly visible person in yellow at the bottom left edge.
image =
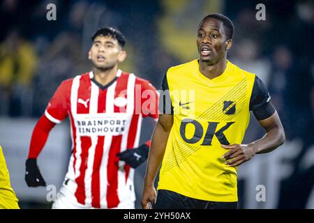
POLYGON ((0 146, 0 209, 20 209, 18 199, 10 185, 6 160, 0 146))

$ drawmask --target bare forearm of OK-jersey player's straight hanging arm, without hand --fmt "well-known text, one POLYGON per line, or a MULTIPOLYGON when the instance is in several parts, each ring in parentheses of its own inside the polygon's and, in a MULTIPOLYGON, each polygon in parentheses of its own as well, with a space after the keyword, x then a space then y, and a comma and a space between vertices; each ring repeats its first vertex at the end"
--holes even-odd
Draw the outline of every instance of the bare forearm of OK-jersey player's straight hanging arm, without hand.
POLYGON ((154 185, 157 171, 163 161, 169 134, 170 130, 165 130, 160 123, 157 123, 151 139, 151 149, 149 150, 147 161, 147 173, 144 179, 144 184, 147 186, 154 185))

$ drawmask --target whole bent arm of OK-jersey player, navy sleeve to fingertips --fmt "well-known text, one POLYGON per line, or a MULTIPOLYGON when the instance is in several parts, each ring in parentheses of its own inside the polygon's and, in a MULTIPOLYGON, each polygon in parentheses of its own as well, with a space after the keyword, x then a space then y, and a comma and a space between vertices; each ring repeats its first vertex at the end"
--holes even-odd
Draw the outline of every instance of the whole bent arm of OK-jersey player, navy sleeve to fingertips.
POLYGON ((226 160, 225 164, 237 167, 251 160, 255 154, 269 153, 284 143, 285 131, 278 113, 270 100, 271 98, 266 87, 258 77, 255 77, 250 109, 266 131, 266 134, 264 134, 262 139, 253 141, 251 144, 221 145, 223 148, 230 150, 223 155, 223 159, 226 160))

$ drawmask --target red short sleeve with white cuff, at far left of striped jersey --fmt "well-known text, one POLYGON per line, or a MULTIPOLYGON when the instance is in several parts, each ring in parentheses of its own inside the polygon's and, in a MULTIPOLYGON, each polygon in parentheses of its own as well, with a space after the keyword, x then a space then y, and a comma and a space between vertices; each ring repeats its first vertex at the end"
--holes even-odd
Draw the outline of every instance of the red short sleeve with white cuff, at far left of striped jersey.
POLYGON ((53 123, 61 123, 68 116, 70 84, 69 81, 62 82, 47 105, 45 116, 53 123))

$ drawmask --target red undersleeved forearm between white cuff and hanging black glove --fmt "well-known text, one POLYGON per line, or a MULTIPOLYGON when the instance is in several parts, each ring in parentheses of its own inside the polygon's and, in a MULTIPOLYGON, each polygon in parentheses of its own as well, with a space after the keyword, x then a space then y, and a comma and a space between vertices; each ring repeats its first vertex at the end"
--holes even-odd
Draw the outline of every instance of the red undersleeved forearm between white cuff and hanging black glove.
POLYGON ((31 144, 29 146, 29 158, 37 158, 40 151, 46 144, 47 138, 49 136, 50 130, 56 125, 49 121, 45 115, 41 116, 38 120, 35 128, 33 129, 33 134, 31 136, 31 144))

